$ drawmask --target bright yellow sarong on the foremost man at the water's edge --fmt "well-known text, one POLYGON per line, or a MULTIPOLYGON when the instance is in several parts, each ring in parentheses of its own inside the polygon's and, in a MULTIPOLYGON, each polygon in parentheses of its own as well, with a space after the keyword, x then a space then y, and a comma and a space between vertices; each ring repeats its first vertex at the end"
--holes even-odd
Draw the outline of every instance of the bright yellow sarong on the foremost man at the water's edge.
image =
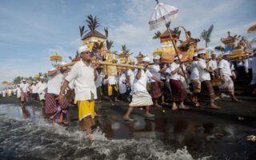
POLYGON ((95 116, 94 101, 78 101, 79 121, 81 121, 82 118, 86 118, 87 116, 91 116, 91 118, 94 118, 95 116))

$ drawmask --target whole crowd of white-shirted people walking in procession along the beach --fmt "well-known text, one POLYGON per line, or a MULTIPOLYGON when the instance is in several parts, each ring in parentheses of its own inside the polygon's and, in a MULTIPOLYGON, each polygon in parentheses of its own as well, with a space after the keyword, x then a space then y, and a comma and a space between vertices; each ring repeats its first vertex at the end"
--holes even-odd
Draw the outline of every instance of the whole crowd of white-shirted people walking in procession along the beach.
POLYGON ((131 122, 134 121, 130 116, 134 107, 144 108, 144 116, 154 118, 150 106, 189 110, 193 104, 218 110, 220 106, 215 101, 223 97, 242 102, 234 95, 236 78, 246 79, 254 89, 252 94, 256 94, 256 50, 248 54, 248 58, 236 62, 230 61, 230 52, 222 55, 212 52, 207 59, 206 50, 200 50, 194 54, 192 62, 184 63, 180 62, 181 56, 168 63, 161 62, 160 55, 154 55, 153 64, 149 57, 144 57, 138 62, 143 69, 121 69, 118 76, 104 75, 101 66, 92 64, 91 50, 87 46, 79 47, 78 54, 80 61, 68 72, 56 66, 48 71, 47 83, 43 77, 31 85, 23 79, 15 89, 2 90, 2 97, 14 94, 25 107, 31 96, 41 102, 42 110, 53 122, 62 124, 67 123, 70 103, 78 105, 80 128, 92 139, 90 128, 94 126, 94 118, 100 116, 94 105, 104 97, 112 105, 119 100, 130 102, 123 119, 131 122))

